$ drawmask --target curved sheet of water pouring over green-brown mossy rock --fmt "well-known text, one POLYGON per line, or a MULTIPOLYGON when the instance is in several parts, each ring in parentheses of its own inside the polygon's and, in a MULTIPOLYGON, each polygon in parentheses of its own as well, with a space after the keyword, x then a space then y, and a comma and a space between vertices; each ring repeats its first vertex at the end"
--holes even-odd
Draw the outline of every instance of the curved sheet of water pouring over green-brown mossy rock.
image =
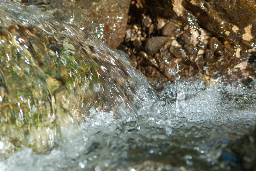
POLYGON ((123 52, 35 6, 0 0, 2 158, 20 147, 51 149, 89 110, 128 118, 156 99, 123 52))

